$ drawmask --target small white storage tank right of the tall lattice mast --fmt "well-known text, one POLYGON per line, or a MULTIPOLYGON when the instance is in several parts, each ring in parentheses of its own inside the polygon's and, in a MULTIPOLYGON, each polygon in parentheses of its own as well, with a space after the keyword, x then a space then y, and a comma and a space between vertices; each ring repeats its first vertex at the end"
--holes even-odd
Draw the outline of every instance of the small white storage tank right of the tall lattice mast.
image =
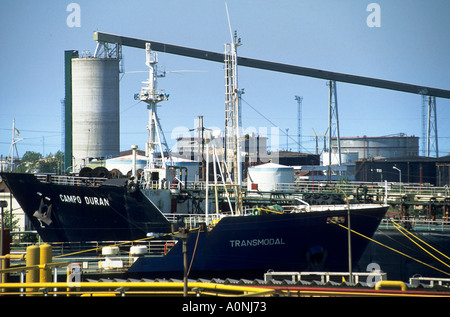
POLYGON ((248 169, 248 190, 274 191, 279 184, 294 183, 294 168, 275 163, 261 164, 248 169))

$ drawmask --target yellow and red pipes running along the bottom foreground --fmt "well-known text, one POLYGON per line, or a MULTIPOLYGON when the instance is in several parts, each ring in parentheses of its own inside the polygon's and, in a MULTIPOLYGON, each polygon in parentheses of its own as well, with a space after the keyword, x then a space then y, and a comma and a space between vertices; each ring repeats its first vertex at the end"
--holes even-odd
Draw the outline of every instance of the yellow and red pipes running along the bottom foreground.
MULTIPOLYGON (((101 279, 88 282, 2 283, 3 296, 178 296, 184 283, 179 280, 101 279), (24 291, 27 289, 28 291, 24 291)), ((400 281, 364 283, 273 280, 189 280, 189 297, 450 297, 445 286, 413 286, 400 281)))

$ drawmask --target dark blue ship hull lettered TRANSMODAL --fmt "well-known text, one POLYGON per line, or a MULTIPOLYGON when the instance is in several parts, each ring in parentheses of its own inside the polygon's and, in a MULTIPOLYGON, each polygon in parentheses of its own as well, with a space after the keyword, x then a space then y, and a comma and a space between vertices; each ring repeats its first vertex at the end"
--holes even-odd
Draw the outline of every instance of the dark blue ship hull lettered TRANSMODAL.
MULTIPOLYGON (((351 211, 351 227, 372 236, 387 207, 372 205, 351 211)), ((190 278, 261 278, 274 271, 347 271, 346 207, 335 211, 225 217, 211 230, 195 230, 187 240, 190 278)), ((368 240, 352 234, 352 263, 368 240)), ((183 278, 182 243, 163 257, 143 257, 128 270, 130 277, 183 278)))

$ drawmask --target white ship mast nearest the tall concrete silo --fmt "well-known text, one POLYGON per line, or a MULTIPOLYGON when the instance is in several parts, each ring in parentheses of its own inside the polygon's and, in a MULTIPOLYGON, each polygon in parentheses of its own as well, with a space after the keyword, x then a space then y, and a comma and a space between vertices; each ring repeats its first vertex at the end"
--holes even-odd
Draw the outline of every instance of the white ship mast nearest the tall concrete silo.
POLYGON ((145 44, 146 60, 145 65, 149 68, 149 77, 147 81, 143 82, 147 84, 146 87, 142 87, 139 94, 135 95, 135 99, 144 101, 147 104, 149 112, 148 120, 148 142, 145 145, 145 153, 148 158, 148 169, 165 169, 166 168, 166 158, 164 156, 165 147, 169 160, 171 161, 170 151, 167 146, 167 142, 164 133, 161 129, 159 123, 157 106, 161 101, 168 100, 169 95, 164 92, 164 90, 157 89, 157 63, 158 56, 155 52, 152 52, 150 48, 150 43, 145 44), (157 158, 158 149, 161 158, 157 158))

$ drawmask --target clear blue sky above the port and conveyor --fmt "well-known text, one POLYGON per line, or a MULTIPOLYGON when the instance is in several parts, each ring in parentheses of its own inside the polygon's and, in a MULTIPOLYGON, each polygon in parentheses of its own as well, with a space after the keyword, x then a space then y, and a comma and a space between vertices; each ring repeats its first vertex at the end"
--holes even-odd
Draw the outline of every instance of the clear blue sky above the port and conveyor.
MULTIPOLYGON (((450 2, 379 0, 380 27, 369 27, 368 0, 228 0, 231 25, 244 57, 450 89, 450 2)), ((0 4, 0 154, 8 155, 12 121, 21 131, 19 155, 61 148, 64 51, 94 51, 102 31, 216 52, 230 41, 224 0, 12 1, 0 4), (80 27, 69 27, 67 6, 80 6, 80 27)), ((123 48, 125 72, 146 70, 145 52, 123 48)), ((224 125, 223 65, 159 54, 168 73, 159 87, 170 100, 159 108, 169 143, 192 129, 198 115, 208 127, 224 125)), ((124 74, 120 84, 121 150, 144 147, 147 110, 136 103, 145 73, 124 74)), ((314 153, 313 129, 328 121, 326 81, 239 68, 247 131, 270 131, 270 118, 289 129, 297 149, 297 103, 303 97, 303 152, 314 153), (251 105, 248 106, 248 105, 251 105)), ((341 136, 422 135, 418 95, 338 83, 341 136)), ((437 99, 440 156, 450 154, 450 100, 437 99)), ((286 148, 280 137, 280 148, 286 148)))

